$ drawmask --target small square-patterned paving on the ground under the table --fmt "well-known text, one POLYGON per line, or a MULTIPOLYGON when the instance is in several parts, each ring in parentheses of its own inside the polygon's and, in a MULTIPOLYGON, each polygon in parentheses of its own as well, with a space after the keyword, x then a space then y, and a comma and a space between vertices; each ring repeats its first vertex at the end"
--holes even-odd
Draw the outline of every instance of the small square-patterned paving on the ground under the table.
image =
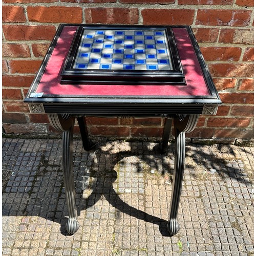
POLYGON ((66 233, 61 140, 3 138, 3 255, 253 255, 253 147, 186 146, 178 220, 167 220, 174 146, 74 140, 80 228, 66 233))

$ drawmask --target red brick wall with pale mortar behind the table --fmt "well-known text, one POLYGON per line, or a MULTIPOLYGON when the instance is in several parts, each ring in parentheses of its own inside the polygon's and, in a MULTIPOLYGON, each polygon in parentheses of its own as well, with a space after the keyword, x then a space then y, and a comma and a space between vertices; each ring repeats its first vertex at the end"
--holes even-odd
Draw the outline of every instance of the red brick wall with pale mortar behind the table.
MULTIPOLYGON (((252 0, 3 0, 3 127, 53 133, 23 103, 59 23, 191 25, 223 105, 190 137, 253 138, 252 0)), ((87 118, 92 135, 161 137, 163 120, 87 118)))

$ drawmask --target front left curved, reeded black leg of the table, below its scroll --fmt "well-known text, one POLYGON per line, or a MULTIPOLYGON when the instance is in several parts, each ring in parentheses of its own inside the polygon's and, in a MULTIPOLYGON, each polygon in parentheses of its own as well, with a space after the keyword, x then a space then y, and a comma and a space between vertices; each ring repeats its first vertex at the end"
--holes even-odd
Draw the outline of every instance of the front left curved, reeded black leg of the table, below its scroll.
POLYGON ((67 131, 63 132, 62 136, 62 166, 66 200, 69 212, 69 220, 66 228, 67 232, 70 234, 75 233, 79 228, 79 224, 77 221, 75 186, 73 176, 73 129, 74 119, 72 121, 71 127, 67 131))

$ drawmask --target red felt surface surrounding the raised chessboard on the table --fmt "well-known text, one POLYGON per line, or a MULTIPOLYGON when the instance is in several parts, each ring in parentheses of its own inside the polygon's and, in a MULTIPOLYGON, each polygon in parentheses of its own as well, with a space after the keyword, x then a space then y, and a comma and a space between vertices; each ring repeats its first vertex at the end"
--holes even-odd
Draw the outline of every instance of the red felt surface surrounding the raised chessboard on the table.
POLYGON ((209 96, 203 73, 186 28, 173 28, 186 85, 60 84, 63 61, 71 47, 76 26, 63 27, 36 93, 93 96, 209 96))

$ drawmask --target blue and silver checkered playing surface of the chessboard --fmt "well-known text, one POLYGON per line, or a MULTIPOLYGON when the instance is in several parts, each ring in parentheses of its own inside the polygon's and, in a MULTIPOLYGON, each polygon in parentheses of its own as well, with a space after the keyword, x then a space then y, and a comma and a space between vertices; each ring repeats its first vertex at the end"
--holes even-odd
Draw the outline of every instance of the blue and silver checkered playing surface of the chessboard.
POLYGON ((84 30, 75 69, 173 70, 163 30, 84 30))

